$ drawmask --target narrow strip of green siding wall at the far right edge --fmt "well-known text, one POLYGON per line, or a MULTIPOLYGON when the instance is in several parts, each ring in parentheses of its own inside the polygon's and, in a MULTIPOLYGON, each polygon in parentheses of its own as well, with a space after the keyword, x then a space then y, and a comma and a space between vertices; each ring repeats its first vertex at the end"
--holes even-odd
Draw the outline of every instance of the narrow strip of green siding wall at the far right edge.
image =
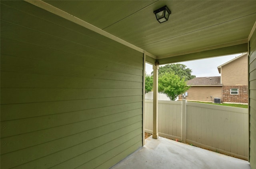
POLYGON ((250 38, 249 55, 249 110, 250 110, 250 165, 256 169, 256 31, 250 38))

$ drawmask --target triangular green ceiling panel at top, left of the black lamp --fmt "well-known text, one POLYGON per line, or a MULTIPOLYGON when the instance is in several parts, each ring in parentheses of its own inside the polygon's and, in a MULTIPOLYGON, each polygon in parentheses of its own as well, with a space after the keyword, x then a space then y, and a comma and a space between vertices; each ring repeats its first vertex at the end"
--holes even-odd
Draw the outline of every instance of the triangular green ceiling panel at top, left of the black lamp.
POLYGON ((107 28, 156 2, 128 0, 43 0, 100 29, 107 28))

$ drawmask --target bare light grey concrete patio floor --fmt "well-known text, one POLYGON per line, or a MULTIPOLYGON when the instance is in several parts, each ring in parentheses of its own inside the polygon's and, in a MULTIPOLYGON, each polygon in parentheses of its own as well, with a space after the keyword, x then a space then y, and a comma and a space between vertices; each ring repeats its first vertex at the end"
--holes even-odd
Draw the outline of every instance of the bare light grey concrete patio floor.
POLYGON ((248 161, 152 136, 146 145, 110 169, 250 169, 248 161))

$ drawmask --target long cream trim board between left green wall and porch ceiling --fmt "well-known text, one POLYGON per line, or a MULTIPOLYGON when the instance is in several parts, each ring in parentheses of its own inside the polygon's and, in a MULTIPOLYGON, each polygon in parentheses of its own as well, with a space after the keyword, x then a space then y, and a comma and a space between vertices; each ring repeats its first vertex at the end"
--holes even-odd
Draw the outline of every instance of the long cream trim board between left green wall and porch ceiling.
MULTIPOLYGON (((107 38, 110 38, 110 39, 112 39, 112 40, 114 40, 116 42, 119 42, 120 44, 128 46, 129 48, 137 50, 138 52, 144 53, 144 50, 142 50, 141 48, 138 48, 137 46, 135 46, 133 44, 130 44, 129 42, 126 42, 126 41, 124 41, 124 40, 122 40, 122 39, 120 39, 120 38, 118 38, 118 37, 116 37, 116 36, 106 32, 106 31, 100 29, 100 28, 96 27, 96 26, 93 26, 92 24, 89 24, 88 22, 85 22, 84 20, 81 20, 81 19, 79 19, 79 18, 77 18, 75 16, 72 16, 71 14, 69 14, 69 13, 67 13, 67 12, 65 12, 63 10, 60 10, 59 8, 56 8, 56 7, 54 7, 54 6, 50 5, 50 4, 47 4, 46 2, 43 2, 42 0, 33 0, 33 1, 31 1, 31 0, 24 0, 24 1, 30 3, 30 4, 32 4, 34 6, 37 6, 39 8, 42 8, 42 9, 48 11, 48 12, 51 12, 52 14, 56 14, 56 15, 62 17, 62 18, 65 18, 66 20, 74 22, 74 23, 76 23, 76 24, 78 24, 80 26, 83 26, 84 28, 92 30, 92 31, 94 31, 94 32, 96 32, 98 34, 106 36, 107 38)), ((146 55, 150 56, 151 58, 156 59, 156 56, 154 56, 153 54, 150 54, 148 52, 145 52, 145 53, 146 53, 146 55)))

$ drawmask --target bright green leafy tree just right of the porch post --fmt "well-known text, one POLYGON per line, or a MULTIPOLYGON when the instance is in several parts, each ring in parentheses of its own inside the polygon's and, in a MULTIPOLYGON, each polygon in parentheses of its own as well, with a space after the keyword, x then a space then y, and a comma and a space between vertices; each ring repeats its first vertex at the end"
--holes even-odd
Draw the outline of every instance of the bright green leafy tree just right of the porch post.
POLYGON ((164 72, 158 78, 158 91, 165 93, 171 100, 175 100, 178 95, 190 88, 187 86, 185 78, 180 78, 174 72, 164 72))

